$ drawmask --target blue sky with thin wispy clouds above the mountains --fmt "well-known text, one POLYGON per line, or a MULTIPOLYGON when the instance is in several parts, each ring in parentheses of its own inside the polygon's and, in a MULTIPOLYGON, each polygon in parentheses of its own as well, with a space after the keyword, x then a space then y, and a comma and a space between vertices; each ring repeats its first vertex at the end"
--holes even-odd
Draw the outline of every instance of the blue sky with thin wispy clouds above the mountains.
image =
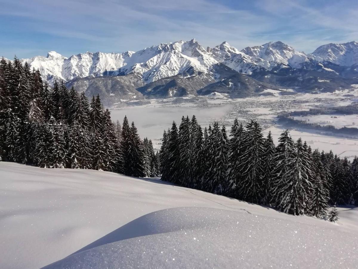
POLYGON ((0 0, 0 56, 137 51, 192 38, 242 49, 282 41, 312 52, 358 41, 353 0, 0 0))

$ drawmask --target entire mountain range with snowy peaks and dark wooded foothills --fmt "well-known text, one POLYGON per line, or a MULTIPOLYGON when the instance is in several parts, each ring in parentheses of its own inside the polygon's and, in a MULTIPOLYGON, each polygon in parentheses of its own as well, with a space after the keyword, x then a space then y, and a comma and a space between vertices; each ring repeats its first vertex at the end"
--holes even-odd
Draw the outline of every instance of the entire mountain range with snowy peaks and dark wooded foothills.
POLYGON ((86 52, 21 59, 50 85, 63 80, 105 103, 120 99, 207 94, 260 94, 265 89, 334 91, 358 83, 358 43, 326 44, 313 53, 269 42, 241 51, 223 42, 205 49, 195 39, 161 43, 140 51, 86 52))

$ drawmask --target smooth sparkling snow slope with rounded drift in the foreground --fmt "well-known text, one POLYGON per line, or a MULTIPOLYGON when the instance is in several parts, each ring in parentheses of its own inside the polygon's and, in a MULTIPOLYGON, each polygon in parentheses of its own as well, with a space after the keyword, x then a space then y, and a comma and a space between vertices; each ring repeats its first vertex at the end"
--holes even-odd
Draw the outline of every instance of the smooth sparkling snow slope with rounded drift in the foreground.
POLYGON ((331 223, 103 171, 0 162, 0 178, 0 268, 358 263, 358 208, 338 208, 331 223))

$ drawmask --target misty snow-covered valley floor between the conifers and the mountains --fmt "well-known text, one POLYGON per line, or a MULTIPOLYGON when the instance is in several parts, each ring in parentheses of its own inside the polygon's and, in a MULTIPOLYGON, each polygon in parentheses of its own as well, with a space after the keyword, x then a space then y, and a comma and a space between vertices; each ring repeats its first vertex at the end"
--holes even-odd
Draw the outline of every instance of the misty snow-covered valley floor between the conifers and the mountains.
MULTIPOLYGON (((321 94, 296 94, 287 96, 259 96, 243 99, 227 99, 225 95, 216 94, 203 97, 197 102, 174 105, 170 103, 171 99, 151 99, 151 103, 142 106, 125 107, 121 109, 112 109, 111 116, 113 120, 122 122, 125 115, 129 121, 134 121, 139 134, 142 138, 148 137, 153 141, 154 147, 160 148, 163 130, 171 127, 173 120, 179 126, 182 115, 196 115, 199 124, 203 127, 213 124, 214 121, 224 124, 229 131, 233 120, 237 118, 244 125, 250 119, 257 120, 263 127, 263 133, 268 131, 273 134, 274 142, 284 131, 284 127, 276 125, 276 115, 280 112, 302 111, 310 108, 337 107, 350 105, 357 102, 355 96, 345 96, 353 94, 358 96, 358 88, 354 90, 343 90, 335 93, 321 94), (207 102, 203 106, 202 101, 207 102)), ((172 98, 172 101, 175 99, 172 98)), ((330 118, 330 115, 317 115, 308 117, 323 121, 334 121, 337 128, 352 126, 352 123, 358 124, 358 115, 340 115, 340 118, 330 118)), ((297 117, 303 119, 303 117, 297 117)), ((319 122, 317 122, 319 123, 319 122)), ((304 141, 313 148, 329 151, 333 150, 334 154, 340 157, 348 157, 353 160, 358 155, 358 140, 343 137, 324 135, 319 132, 309 130, 290 131, 295 139, 302 137, 304 141)))

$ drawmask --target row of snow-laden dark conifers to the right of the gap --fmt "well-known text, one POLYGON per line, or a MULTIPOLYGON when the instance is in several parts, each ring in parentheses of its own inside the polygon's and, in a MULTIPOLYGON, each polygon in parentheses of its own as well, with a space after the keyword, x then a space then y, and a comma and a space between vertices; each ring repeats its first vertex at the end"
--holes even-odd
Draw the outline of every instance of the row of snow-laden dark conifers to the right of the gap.
POLYGON ((235 119, 202 127, 195 115, 164 131, 162 180, 184 187, 270 205, 294 215, 326 216, 329 204, 358 205, 358 159, 350 163, 330 152, 312 151, 284 131, 277 146, 260 124, 244 128, 235 119))

